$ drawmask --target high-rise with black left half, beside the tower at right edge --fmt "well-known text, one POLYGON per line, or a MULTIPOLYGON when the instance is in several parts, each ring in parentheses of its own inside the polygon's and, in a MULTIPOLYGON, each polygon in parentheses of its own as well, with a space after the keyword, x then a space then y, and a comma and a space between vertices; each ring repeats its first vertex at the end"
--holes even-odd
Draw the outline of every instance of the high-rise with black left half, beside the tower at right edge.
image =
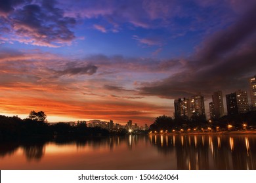
POLYGON ((226 95, 226 108, 228 115, 248 112, 247 92, 238 90, 235 93, 226 95))

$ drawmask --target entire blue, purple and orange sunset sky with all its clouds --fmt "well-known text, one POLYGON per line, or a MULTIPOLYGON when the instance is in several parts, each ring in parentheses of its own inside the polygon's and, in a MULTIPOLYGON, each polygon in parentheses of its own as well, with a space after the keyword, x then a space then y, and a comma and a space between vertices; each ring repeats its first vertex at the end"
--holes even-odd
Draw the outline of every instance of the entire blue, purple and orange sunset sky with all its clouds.
POLYGON ((208 114, 248 91, 255 21, 255 0, 0 0, 0 115, 152 124, 196 93, 208 114))

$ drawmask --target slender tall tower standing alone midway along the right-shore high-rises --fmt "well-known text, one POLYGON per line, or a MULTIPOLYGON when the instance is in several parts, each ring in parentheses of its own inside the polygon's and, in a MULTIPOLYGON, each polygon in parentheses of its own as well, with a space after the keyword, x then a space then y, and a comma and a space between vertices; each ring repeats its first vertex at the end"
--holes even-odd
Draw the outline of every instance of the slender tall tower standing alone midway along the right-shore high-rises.
POLYGON ((221 118, 224 116, 223 92, 221 92, 221 90, 214 92, 211 97, 213 99, 213 116, 215 116, 215 118, 221 118))

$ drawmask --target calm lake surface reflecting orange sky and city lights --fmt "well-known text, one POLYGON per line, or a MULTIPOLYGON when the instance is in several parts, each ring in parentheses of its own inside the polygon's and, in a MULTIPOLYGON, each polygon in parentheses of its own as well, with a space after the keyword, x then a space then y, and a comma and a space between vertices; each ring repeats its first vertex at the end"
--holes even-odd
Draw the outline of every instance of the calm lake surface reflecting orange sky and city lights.
POLYGON ((0 169, 256 169, 256 135, 1 142, 0 169))

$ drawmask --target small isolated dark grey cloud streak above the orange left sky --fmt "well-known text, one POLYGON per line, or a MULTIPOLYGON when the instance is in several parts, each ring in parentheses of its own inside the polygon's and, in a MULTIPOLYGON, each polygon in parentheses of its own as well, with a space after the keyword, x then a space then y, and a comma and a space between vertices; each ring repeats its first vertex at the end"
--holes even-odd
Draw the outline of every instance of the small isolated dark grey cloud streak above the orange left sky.
POLYGON ((70 67, 64 71, 56 71, 58 75, 93 75, 98 67, 95 65, 87 65, 84 67, 70 67))

